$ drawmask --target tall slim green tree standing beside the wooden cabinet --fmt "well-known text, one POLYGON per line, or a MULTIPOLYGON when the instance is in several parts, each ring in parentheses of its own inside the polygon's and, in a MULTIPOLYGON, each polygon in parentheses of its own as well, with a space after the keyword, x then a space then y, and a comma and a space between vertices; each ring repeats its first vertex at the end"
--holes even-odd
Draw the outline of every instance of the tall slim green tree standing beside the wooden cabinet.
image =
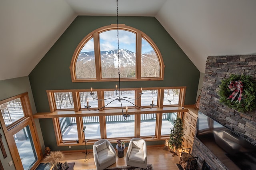
POLYGON ((174 126, 170 131, 170 138, 168 140, 169 148, 172 149, 170 152, 172 152, 172 156, 175 154, 178 155, 177 150, 182 148, 182 142, 183 142, 183 123, 182 119, 177 117, 177 119, 174 121, 174 126))

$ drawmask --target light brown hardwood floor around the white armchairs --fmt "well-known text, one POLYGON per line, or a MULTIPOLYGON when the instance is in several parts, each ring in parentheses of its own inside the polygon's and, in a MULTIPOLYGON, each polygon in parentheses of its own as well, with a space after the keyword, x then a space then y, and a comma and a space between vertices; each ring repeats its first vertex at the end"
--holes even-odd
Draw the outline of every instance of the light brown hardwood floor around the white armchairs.
MULTIPOLYGON (((74 170, 88 170, 95 169, 96 166, 94 164, 93 153, 89 153, 85 158, 85 153, 83 152, 64 152, 64 159, 60 162, 67 161, 75 162, 74 170)), ((178 170, 176 163, 179 162, 179 156, 172 156, 167 150, 164 150, 163 147, 148 147, 147 148, 148 155, 148 164, 152 164, 154 170, 178 170)), ((41 161, 44 163, 44 160, 41 161)), ((123 158, 116 158, 116 163, 111 165, 110 167, 116 166, 126 166, 126 149, 124 150, 123 158)))

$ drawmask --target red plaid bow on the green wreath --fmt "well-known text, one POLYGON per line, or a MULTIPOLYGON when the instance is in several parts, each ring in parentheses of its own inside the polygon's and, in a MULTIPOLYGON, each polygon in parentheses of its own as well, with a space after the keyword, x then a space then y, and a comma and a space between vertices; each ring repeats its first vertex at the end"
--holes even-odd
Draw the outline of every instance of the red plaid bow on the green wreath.
POLYGON ((243 93, 243 83, 242 81, 230 81, 230 84, 228 85, 228 88, 230 89, 230 91, 233 91, 233 93, 227 98, 227 99, 231 99, 231 101, 233 101, 236 96, 238 95, 238 93, 240 92, 237 101, 241 101, 242 99, 242 93, 243 93))

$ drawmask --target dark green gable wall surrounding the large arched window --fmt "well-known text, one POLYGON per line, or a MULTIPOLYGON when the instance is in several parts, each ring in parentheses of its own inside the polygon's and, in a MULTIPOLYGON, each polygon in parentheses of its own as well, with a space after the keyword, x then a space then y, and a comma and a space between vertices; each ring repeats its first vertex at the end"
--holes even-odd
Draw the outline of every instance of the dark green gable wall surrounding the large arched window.
MULTIPOLYGON (((72 83, 69 69, 78 43, 90 32, 110 24, 116 24, 116 16, 78 16, 36 65, 29 79, 38 112, 50 111, 46 90, 114 87, 115 82, 72 83)), ((195 104, 200 72, 158 20, 154 17, 119 17, 119 24, 134 27, 148 35, 160 49, 165 65, 163 81, 121 82, 121 86, 123 88, 186 86, 185 105, 195 104)), ((48 127, 50 123, 52 120, 40 119, 45 145, 61 150, 62 148, 54 143, 54 130, 48 127), (47 136, 51 136, 51 139, 47 136)))

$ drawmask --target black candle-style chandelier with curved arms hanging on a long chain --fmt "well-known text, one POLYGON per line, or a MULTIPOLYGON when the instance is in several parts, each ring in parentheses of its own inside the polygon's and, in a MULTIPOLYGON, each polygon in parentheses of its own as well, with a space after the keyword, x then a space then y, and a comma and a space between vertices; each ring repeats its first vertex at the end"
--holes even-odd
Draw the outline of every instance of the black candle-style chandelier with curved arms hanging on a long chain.
MULTIPOLYGON (((128 99, 130 100, 137 100, 137 99, 140 99, 141 95, 143 95, 142 93, 142 88, 140 88, 140 96, 137 97, 136 99, 132 99, 132 98, 129 98, 129 97, 121 97, 121 91, 120 91, 120 60, 119 60, 119 28, 118 28, 118 0, 116 0, 116 16, 117 16, 117 45, 118 45, 118 49, 117 49, 117 56, 118 56, 118 85, 116 85, 116 89, 115 89, 115 92, 116 92, 116 97, 110 97, 108 99, 113 99, 112 101, 110 101, 108 104, 104 105, 103 107, 99 108, 99 109, 93 109, 93 110, 90 110, 89 108, 91 107, 89 105, 89 99, 87 99, 87 105, 85 106, 85 108, 87 108, 88 111, 98 111, 100 109, 103 109, 104 107, 106 107, 107 105, 109 105, 110 103, 112 103, 113 101, 119 101, 120 102, 120 105, 121 105, 121 109, 122 109, 122 115, 124 117, 124 119, 126 120, 128 117, 130 117, 130 115, 128 114, 128 107, 126 106, 126 111, 124 113, 124 110, 123 110, 123 105, 122 105, 122 101, 127 101, 129 103, 131 103, 132 105, 134 105, 135 107, 137 108, 140 108, 140 109, 152 109, 152 107, 154 107, 154 99, 152 98, 152 104, 150 104, 150 107, 148 108, 143 108, 143 107, 140 107, 140 106, 137 106, 135 105, 134 103, 130 102, 128 99)), ((94 97, 94 93, 92 91, 92 87, 91 87, 91 93, 90 95, 92 96, 93 99, 95 99, 96 101, 105 101, 105 100, 108 100, 108 99, 97 99, 94 97)))

